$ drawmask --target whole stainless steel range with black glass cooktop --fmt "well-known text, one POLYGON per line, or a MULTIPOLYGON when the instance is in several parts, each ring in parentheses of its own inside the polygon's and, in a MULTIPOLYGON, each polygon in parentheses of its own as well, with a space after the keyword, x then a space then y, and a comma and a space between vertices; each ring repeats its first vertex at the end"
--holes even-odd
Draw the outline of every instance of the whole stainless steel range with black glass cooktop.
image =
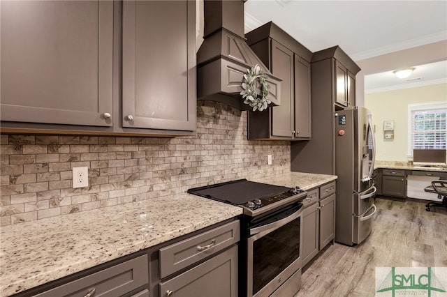
POLYGON ((244 208, 241 218, 240 296, 293 296, 301 287, 300 188, 240 179, 189 193, 244 208))

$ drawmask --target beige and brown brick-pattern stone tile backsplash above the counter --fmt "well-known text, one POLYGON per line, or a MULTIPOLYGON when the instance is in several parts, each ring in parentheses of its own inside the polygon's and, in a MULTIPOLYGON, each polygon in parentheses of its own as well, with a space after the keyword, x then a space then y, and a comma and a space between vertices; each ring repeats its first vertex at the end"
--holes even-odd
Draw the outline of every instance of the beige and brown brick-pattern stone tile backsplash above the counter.
POLYGON ((0 137, 3 226, 290 172, 290 142, 247 140, 247 112, 209 101, 198 102, 190 137, 0 137), (89 187, 73 189, 71 168, 80 166, 89 187))

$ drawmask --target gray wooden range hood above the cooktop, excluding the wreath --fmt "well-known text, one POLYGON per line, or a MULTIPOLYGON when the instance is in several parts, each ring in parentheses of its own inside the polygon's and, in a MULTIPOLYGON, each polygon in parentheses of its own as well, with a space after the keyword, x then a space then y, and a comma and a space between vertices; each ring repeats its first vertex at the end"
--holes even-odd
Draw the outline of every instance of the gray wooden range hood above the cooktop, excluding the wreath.
MULTIPOLYGON (((244 38, 244 1, 205 0, 204 40, 197 53, 198 100, 250 109, 240 95, 247 69, 258 64, 269 76, 269 100, 280 104, 281 79, 270 73, 244 38)), ((261 93, 261 91, 258 91, 261 93)))

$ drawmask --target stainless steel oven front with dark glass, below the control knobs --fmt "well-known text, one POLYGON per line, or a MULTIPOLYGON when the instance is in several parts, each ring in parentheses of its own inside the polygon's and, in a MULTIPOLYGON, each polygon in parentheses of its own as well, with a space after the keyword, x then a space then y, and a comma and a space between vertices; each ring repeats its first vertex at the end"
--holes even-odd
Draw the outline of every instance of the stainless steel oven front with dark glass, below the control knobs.
POLYGON ((300 289, 301 213, 302 204, 293 204, 249 227, 247 296, 293 296, 300 289))

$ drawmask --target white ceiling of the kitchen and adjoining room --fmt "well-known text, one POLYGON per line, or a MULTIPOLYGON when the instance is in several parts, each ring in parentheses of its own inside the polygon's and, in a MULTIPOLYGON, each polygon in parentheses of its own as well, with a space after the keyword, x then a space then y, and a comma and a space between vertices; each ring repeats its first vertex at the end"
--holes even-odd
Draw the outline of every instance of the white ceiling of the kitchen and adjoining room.
MULTIPOLYGON (((245 29, 274 22, 312 52, 339 45, 354 61, 447 40, 447 1, 248 0, 245 29)), ((447 82, 447 62, 365 76, 365 93, 447 82)))

